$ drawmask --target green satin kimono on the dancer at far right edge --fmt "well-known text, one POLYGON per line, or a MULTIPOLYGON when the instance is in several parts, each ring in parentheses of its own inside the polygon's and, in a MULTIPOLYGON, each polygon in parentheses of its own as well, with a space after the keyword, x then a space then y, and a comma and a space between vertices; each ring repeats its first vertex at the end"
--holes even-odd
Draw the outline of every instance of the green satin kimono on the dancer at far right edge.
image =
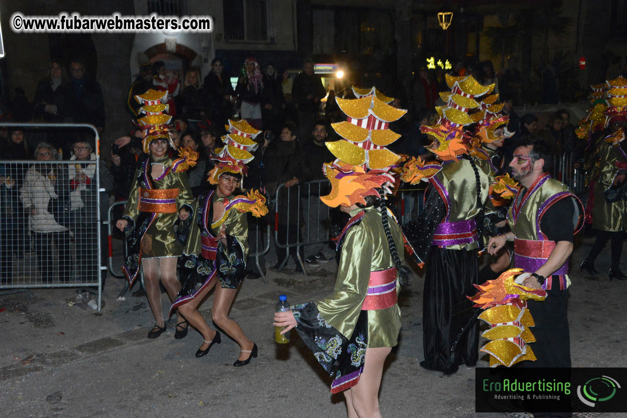
POLYGON ((618 146, 603 142, 599 147, 599 174, 594 185, 594 212, 592 227, 598 231, 624 231, 627 228, 627 202, 619 201, 608 203, 604 191, 614 182, 618 174, 617 161, 626 160, 618 146))

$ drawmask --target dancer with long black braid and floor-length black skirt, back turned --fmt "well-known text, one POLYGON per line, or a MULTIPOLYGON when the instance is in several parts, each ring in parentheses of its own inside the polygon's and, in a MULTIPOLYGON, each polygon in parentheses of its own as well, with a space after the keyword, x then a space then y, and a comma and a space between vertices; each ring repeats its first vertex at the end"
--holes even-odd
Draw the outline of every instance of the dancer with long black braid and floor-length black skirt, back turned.
POLYGON ((482 241, 483 206, 488 197, 488 177, 468 155, 466 125, 474 122, 468 109, 474 99, 490 93, 472 76, 446 75, 450 92, 441 93, 446 104, 436 107, 440 119, 421 130, 433 137, 431 152, 441 170, 429 169, 415 159, 406 163, 403 180, 415 184, 428 180, 424 214, 410 238, 416 258, 426 260, 423 300, 424 360, 421 367, 451 374, 461 364, 478 360, 478 324, 472 303, 478 283, 478 253, 482 241))

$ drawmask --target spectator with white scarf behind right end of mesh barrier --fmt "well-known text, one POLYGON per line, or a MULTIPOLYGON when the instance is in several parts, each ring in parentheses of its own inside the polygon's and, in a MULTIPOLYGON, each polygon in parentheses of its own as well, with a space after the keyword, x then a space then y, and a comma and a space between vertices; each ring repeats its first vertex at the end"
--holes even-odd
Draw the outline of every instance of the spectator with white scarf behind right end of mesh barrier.
MULTIPOLYGON (((72 146, 73 154, 70 158, 76 164, 70 165, 68 179, 70 180, 70 211, 72 232, 74 233, 76 271, 82 281, 95 281, 97 274, 102 278, 104 286, 107 270, 100 270, 97 259, 97 235, 100 233, 100 243, 107 242, 107 229, 103 221, 107 219, 109 207, 108 192, 113 189, 113 175, 109 172, 103 160, 98 164, 96 181, 96 154, 93 152, 92 138, 85 135, 76 140, 72 146), (98 191, 100 188, 100 191, 98 191), (100 206, 97 206, 100 193, 100 206), (98 222, 98 211, 100 219, 98 222)), ((100 265, 107 265, 107 246, 100 246, 100 265)))

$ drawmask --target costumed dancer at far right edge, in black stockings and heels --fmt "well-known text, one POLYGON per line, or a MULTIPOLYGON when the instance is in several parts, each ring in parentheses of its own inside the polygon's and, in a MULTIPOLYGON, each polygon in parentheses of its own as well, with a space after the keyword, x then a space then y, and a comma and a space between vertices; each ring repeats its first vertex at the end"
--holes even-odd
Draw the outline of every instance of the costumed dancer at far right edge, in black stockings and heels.
POLYGON ((596 241, 590 253, 582 261, 581 269, 591 274, 598 274, 594 261, 611 239, 611 268, 609 280, 627 280, 619 265, 623 252, 624 231, 627 229, 627 201, 618 196, 618 201, 609 202, 605 193, 611 188, 624 188, 625 171, 619 170, 616 163, 627 161, 624 142, 624 126, 627 121, 627 107, 621 106, 627 96, 627 80, 619 77, 608 83, 608 104, 604 115, 606 118, 606 135, 598 149, 598 170, 594 182, 594 210, 592 227, 596 229, 596 241))

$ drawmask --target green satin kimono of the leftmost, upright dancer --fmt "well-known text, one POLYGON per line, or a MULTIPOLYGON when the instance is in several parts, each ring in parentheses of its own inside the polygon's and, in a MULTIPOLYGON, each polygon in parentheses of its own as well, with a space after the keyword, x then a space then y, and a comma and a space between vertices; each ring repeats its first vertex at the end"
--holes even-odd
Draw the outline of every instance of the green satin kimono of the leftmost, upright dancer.
MULTIPOLYGON (((147 173, 150 174, 152 164, 162 164, 165 170, 172 165, 172 162, 172 159, 167 155, 158 160, 154 160, 152 155, 150 155, 147 173)), ((124 209, 124 216, 132 219, 135 224, 137 224, 137 217, 139 216, 140 187, 144 189, 150 188, 147 187, 141 167, 135 171, 135 179, 130 189, 129 200, 124 209)), ((191 210, 193 197, 185 172, 176 173, 170 171, 161 180, 152 180, 152 189, 179 189, 179 196, 176 197, 177 210, 180 210, 184 205, 189 206, 191 210)), ((157 214, 155 221, 152 222, 144 235, 144 239, 142 239, 142 248, 144 249, 142 258, 177 257, 183 254, 183 247, 174 232, 174 222, 176 222, 178 216, 178 213, 157 214)))

